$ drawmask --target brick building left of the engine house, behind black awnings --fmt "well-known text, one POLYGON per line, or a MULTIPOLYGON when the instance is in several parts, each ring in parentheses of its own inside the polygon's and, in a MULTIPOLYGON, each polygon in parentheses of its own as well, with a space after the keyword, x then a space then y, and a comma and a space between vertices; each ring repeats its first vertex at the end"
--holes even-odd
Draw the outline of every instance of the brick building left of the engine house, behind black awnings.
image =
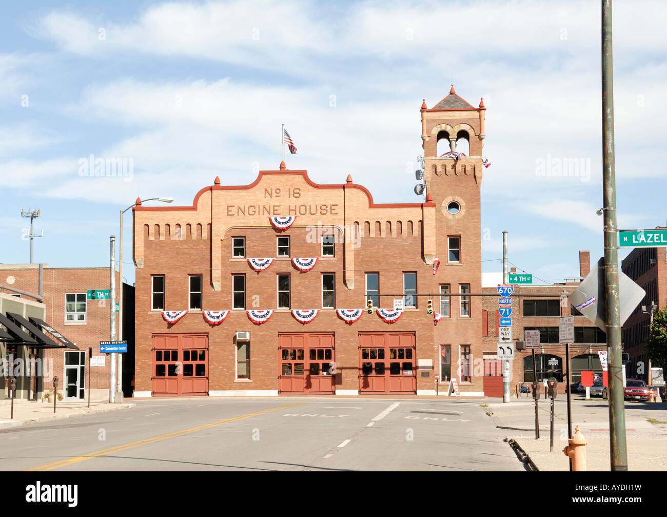
MULTIPOLYGON (((99 342, 110 337, 109 300, 90 300, 87 292, 109 290, 109 268, 49 268, 43 264, 43 305, 45 318, 55 330, 73 342, 75 350, 47 349, 43 357, 53 360, 53 375, 60 378, 59 391, 67 399, 85 399, 88 394, 90 376, 92 398, 106 398, 109 394, 109 358, 99 354, 99 342), (88 349, 93 348, 93 357, 105 358, 105 366, 89 368, 88 349), (78 366, 78 368, 77 368, 78 366), (65 386, 63 386, 65 384, 65 386)), ((116 285, 119 276, 116 272, 116 285)), ((39 294, 39 264, 0 264, 0 286, 23 292, 39 294)), ((15 291, 0 288, 0 292, 14 296, 15 291)), ((134 372, 134 288, 123 286, 123 339, 128 342, 128 353, 123 354, 123 392, 131 395, 134 372)), ((116 328, 118 319, 116 317, 116 328)), ((52 384, 45 388, 48 390, 52 384)))

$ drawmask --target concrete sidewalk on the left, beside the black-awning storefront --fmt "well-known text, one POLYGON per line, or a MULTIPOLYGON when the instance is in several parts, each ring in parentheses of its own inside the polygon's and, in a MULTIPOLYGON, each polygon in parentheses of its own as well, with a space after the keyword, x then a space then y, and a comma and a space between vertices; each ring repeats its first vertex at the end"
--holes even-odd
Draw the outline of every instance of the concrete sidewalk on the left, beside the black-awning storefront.
POLYGON ((57 402, 55 414, 53 413, 53 402, 29 402, 27 400, 14 401, 14 418, 11 416, 11 401, 3 400, 0 402, 0 429, 25 426, 27 424, 37 424, 41 422, 51 422, 63 418, 73 418, 95 413, 106 413, 109 411, 123 410, 133 408, 136 404, 109 404, 108 402, 95 401, 87 402, 57 402))

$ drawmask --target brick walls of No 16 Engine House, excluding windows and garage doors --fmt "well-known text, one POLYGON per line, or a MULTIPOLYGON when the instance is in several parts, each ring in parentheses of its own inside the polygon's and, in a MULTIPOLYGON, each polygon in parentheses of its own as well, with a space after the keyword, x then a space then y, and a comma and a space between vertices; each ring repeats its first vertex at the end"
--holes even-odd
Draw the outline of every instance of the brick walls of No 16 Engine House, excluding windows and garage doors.
MULTIPOLYGON (((449 97, 452 97, 450 95, 449 97)), ((448 98, 449 98, 448 97, 448 98)), ((467 103, 466 103, 467 104, 467 103)), ((159 335, 198 334, 208 340, 208 392, 211 395, 277 394, 278 338, 283 333, 332 332, 336 354, 336 392, 360 390, 360 334, 402 333, 415 336, 416 392, 435 394, 434 374, 440 370, 440 345, 452 350, 452 372, 462 346, 472 358, 481 356, 482 300, 470 298, 470 315, 460 316, 458 297, 451 298, 451 316, 434 324, 427 314, 428 298, 439 310, 441 284, 458 292, 481 290, 480 185, 484 108, 461 105, 457 109, 422 107, 425 149, 424 203, 374 203, 370 192, 352 181, 319 185, 304 170, 260 171, 250 185, 219 184, 204 187, 191 207, 145 207, 133 210, 133 257, 136 270, 135 394, 153 394, 155 356, 153 338, 159 335), (450 131, 467 131, 471 156, 444 159, 436 155, 438 139, 450 131), (474 151, 474 152, 473 152, 474 151), (452 200, 460 205, 448 212, 452 200), (280 231, 269 215, 295 215, 295 223, 280 231), (322 256, 320 235, 336 237, 333 257, 322 256), (278 257, 262 272, 254 272, 247 258, 276 257, 278 236, 290 237, 290 257, 318 257, 315 267, 299 272, 289 258, 278 257), (448 236, 460 238, 460 260, 448 261, 448 236), (245 257, 232 256, 233 237, 245 237, 245 257), (433 274, 434 259, 440 268, 433 274), (346 324, 335 310, 322 307, 322 274, 335 275, 335 306, 366 307, 366 273, 379 273, 380 307, 392 308, 391 295, 404 293, 403 274, 416 273, 419 296, 416 308, 406 308, 398 322, 387 324, 376 313, 346 324), (297 322, 289 310, 276 310, 264 324, 253 324, 245 310, 231 310, 219 326, 203 320, 193 310, 175 324, 167 324, 161 311, 151 310, 151 278, 164 276, 165 310, 188 308, 188 278, 203 279, 203 310, 232 309, 232 275, 245 275, 245 309, 277 307, 277 274, 289 274, 291 309, 319 309, 313 322, 297 322), (249 331, 250 378, 236 378, 235 332, 249 331)), ((342 173, 345 175, 346 173, 342 173)), ((452 373, 452 376, 455 374, 452 373)), ((456 374, 458 378, 458 373, 456 374)), ((459 379, 460 380, 460 379, 459 379)), ((442 381, 442 380, 441 380, 442 381)), ((482 378, 460 383, 464 394, 482 394, 482 378)), ((446 391, 446 390, 442 390, 446 391)))

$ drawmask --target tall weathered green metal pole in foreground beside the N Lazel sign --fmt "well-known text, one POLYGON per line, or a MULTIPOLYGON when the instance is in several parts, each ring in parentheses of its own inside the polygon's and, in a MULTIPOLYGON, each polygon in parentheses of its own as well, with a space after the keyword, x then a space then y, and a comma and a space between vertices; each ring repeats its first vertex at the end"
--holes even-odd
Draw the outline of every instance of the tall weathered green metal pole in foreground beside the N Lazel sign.
POLYGON ((602 195, 604 205, 604 297, 609 358, 609 442, 612 471, 628 470, 623 398, 620 302, 618 294, 618 229, 614 168, 614 67, 612 0, 602 0, 602 195))

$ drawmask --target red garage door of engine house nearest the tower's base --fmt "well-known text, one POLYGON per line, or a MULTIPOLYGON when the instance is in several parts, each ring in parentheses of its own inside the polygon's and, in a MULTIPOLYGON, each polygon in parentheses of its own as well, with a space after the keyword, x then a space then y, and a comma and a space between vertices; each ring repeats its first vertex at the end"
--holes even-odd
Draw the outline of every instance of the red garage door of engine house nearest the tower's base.
POLYGON ((359 334, 359 391, 416 394, 414 334, 359 334))

